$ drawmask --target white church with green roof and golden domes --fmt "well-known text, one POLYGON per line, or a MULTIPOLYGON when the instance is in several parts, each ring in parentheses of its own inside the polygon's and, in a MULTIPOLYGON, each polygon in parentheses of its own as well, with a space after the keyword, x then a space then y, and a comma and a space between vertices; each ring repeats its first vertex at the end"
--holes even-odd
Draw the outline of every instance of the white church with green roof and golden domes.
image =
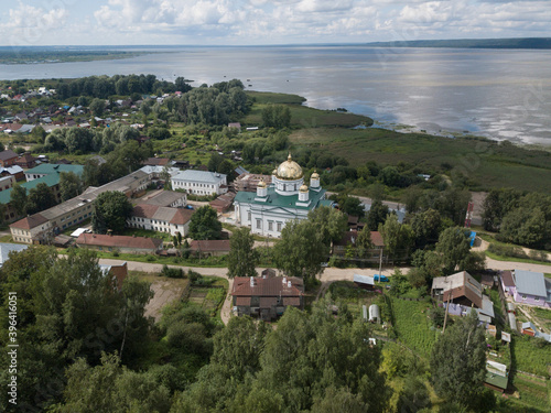
POLYGON ((302 167, 289 154, 288 160, 273 170, 270 185, 260 181, 256 193, 237 193, 235 220, 240 226, 250 227, 252 233, 279 238, 287 221, 306 219, 312 209, 332 204, 325 199, 320 175, 312 174, 309 187, 304 184, 302 167))

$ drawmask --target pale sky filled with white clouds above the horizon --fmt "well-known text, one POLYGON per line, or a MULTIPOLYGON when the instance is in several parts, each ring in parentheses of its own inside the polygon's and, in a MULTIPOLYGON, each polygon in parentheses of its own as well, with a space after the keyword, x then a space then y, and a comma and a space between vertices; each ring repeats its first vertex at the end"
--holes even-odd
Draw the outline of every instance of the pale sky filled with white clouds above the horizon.
POLYGON ((551 36, 551 1, 0 0, 0 46, 551 36))

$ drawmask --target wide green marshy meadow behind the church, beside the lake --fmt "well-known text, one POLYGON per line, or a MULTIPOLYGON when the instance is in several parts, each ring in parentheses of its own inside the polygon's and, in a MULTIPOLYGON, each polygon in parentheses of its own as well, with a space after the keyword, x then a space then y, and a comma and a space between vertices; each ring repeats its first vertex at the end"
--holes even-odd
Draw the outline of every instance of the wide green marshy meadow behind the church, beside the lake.
POLYGON ((465 175, 473 191, 506 186, 551 193, 550 152, 528 151, 482 139, 317 126, 320 128, 294 131, 291 141, 344 156, 352 166, 368 161, 392 165, 406 162, 431 170, 446 164, 465 175))

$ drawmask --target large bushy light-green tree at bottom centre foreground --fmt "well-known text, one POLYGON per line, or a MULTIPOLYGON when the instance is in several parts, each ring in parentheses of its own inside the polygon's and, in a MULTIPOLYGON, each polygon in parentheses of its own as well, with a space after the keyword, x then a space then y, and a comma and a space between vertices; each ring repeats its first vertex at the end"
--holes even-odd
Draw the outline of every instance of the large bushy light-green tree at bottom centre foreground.
POLYGON ((311 314, 285 311, 278 329, 266 338, 262 370, 252 391, 280 394, 285 412, 348 411, 344 406, 352 412, 382 412, 389 394, 379 371, 380 346, 365 341, 370 334, 366 323, 333 317, 327 311, 331 304, 321 300, 311 314))

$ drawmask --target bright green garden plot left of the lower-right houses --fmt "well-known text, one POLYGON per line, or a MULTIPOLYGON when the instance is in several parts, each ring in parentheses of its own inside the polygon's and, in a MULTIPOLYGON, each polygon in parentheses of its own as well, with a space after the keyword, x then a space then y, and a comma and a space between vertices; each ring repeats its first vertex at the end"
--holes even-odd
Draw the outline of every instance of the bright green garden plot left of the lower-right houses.
POLYGON ((430 307, 430 304, 425 302, 392 298, 395 330, 398 339, 424 358, 430 357, 439 334, 430 329, 426 316, 430 307))

